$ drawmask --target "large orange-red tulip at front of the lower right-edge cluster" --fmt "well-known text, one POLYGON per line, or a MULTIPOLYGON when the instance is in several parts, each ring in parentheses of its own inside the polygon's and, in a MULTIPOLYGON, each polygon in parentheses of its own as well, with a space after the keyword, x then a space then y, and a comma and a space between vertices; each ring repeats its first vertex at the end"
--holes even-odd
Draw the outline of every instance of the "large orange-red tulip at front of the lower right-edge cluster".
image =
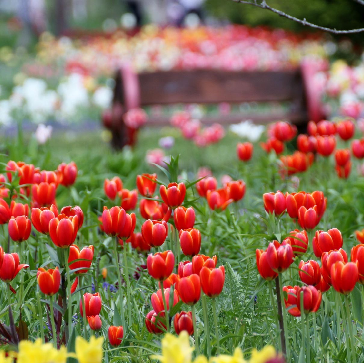
POLYGON ((347 295, 354 290, 359 278, 359 270, 354 262, 337 261, 331 266, 333 288, 340 294, 347 295))

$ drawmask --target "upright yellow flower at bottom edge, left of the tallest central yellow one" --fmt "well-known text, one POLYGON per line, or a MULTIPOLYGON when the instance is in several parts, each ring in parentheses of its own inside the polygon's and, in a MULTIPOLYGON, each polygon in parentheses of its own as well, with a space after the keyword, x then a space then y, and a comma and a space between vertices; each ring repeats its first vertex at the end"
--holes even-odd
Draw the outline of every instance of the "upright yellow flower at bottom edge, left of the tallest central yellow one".
POLYGON ((103 357, 102 344, 104 338, 95 338, 91 336, 90 342, 84 340, 81 336, 76 338, 76 356, 78 363, 101 363, 103 357))

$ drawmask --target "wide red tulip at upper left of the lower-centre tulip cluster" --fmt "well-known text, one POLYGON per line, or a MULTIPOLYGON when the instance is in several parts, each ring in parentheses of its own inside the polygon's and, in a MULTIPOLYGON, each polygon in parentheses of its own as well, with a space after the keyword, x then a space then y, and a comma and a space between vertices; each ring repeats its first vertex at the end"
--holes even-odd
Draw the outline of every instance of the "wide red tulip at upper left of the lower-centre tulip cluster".
POLYGON ((156 252, 154 255, 148 255, 147 267, 149 275, 156 280, 164 281, 173 272, 174 255, 172 251, 156 252))

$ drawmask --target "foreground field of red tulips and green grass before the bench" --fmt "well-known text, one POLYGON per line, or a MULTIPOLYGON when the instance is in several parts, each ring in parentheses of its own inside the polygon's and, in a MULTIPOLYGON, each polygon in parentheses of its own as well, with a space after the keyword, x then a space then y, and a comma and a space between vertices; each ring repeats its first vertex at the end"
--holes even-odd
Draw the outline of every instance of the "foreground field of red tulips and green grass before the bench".
POLYGON ((1 141, 0 362, 363 361, 360 121, 66 135, 1 141))

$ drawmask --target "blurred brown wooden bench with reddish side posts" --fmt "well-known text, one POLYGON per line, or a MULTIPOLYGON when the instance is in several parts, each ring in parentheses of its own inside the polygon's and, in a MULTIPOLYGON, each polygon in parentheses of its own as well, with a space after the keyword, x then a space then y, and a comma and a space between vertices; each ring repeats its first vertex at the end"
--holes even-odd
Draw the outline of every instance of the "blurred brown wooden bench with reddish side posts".
MULTIPOLYGON (((227 103, 288 103, 285 109, 268 113, 243 115, 207 116, 201 119, 205 125, 238 123, 251 119, 266 124, 277 120, 288 120, 304 125, 309 120, 324 118, 320 110, 319 97, 310 82, 309 66, 287 71, 233 72, 214 69, 192 71, 158 71, 133 73, 124 67, 116 73, 112 108, 103 115, 104 125, 112 131, 112 145, 122 148, 134 144, 136 131, 128 129, 123 114, 131 108, 150 105, 172 104, 219 104, 227 103)), ((169 117, 149 117, 146 126, 169 124, 169 117)))

